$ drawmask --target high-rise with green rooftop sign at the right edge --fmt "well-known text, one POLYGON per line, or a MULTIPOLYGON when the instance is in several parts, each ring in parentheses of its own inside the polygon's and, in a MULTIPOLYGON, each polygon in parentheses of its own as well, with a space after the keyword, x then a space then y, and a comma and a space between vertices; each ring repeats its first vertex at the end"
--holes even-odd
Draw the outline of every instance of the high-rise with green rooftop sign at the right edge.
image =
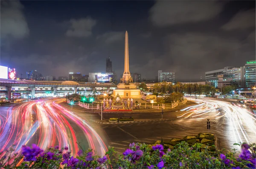
POLYGON ((256 61, 250 60, 245 64, 245 85, 246 87, 255 86, 256 84, 256 61))

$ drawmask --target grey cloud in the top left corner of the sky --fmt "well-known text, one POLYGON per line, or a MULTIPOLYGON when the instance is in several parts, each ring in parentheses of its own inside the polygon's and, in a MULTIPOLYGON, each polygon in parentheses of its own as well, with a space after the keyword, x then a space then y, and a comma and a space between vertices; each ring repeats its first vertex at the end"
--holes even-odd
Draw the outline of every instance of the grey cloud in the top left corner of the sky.
POLYGON ((29 28, 19 1, 1 1, 1 38, 24 38, 29 28))

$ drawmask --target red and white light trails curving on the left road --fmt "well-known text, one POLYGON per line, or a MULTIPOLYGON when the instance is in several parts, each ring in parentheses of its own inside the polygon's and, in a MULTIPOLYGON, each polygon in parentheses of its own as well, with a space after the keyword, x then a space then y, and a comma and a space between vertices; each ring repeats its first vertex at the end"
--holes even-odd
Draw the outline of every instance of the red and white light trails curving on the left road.
POLYGON ((95 150, 96 155, 105 155, 108 149, 102 138, 87 121, 61 106, 59 103, 62 101, 29 101, 1 113, 0 142, 4 144, 0 144, 0 151, 12 147, 20 155, 22 145, 30 146, 34 143, 44 150, 49 146, 68 146, 72 155, 76 156, 79 151, 76 142, 78 138, 81 140, 84 137, 83 144, 95 150), (77 131, 73 129, 74 124, 77 131))

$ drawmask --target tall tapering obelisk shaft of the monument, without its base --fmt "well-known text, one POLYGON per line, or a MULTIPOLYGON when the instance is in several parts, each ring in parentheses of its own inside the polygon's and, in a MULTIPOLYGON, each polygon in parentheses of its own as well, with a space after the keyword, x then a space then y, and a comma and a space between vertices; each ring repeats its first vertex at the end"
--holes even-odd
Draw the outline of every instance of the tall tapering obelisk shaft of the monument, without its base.
POLYGON ((128 32, 125 31, 125 70, 123 73, 123 83, 129 83, 131 74, 129 71, 129 48, 128 48, 128 32))

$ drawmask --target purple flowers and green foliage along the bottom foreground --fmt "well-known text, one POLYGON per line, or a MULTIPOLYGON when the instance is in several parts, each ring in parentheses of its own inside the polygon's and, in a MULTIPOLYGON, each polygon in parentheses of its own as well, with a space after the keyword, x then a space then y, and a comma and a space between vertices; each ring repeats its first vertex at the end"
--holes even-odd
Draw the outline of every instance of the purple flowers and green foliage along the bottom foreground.
POLYGON ((20 156, 13 154, 13 149, 0 152, 0 168, 102 169, 108 166, 113 169, 255 168, 255 144, 242 144, 238 158, 235 157, 236 152, 223 154, 218 151, 212 155, 207 146, 201 151, 202 145, 189 146, 183 141, 174 149, 164 150, 165 145, 161 144, 149 147, 147 144, 133 143, 122 155, 116 155, 114 148, 109 147, 103 157, 93 155, 92 149, 79 150, 74 157, 68 151, 68 147, 60 149, 59 146, 55 146, 44 152, 33 144, 32 147, 22 146, 20 156))

